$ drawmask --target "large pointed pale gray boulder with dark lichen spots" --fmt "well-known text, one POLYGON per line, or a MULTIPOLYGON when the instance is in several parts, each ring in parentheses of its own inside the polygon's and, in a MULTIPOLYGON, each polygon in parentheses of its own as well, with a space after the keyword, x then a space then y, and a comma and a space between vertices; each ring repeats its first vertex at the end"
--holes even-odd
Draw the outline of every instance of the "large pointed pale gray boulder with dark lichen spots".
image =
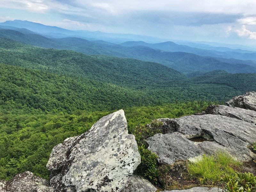
POLYGON ((128 134, 123 110, 102 117, 77 137, 67 156, 54 191, 119 192, 140 164, 138 146, 128 134))

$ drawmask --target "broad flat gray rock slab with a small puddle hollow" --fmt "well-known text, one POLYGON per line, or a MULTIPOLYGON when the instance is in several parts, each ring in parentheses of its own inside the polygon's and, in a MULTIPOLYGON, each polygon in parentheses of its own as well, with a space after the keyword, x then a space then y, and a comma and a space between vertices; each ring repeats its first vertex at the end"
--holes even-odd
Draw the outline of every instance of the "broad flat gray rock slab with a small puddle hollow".
POLYGON ((148 149, 159 156, 160 163, 170 164, 176 159, 191 159, 198 156, 200 151, 213 154, 225 150, 241 161, 256 158, 247 148, 255 141, 254 124, 221 115, 192 115, 159 120, 163 122, 162 129, 165 134, 156 134, 148 138, 147 142, 148 149), (174 131, 183 136, 177 133, 168 134, 174 131), (192 141, 188 139, 197 137, 203 137, 208 141, 194 142, 195 145, 191 145, 192 141))

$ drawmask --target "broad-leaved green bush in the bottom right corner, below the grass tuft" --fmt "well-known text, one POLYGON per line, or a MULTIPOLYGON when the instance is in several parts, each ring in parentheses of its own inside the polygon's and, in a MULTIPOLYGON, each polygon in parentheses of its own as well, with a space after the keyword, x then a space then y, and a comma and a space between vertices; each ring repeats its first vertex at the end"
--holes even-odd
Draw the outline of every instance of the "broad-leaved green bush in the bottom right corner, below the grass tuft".
POLYGON ((228 192, 255 192, 256 176, 250 172, 236 173, 235 175, 225 174, 221 181, 225 183, 228 192))

